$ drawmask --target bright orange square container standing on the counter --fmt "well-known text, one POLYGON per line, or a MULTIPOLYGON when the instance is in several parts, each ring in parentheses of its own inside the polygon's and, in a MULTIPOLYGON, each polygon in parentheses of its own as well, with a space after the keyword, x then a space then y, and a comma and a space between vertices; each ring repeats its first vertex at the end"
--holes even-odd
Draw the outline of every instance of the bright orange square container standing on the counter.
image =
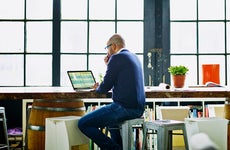
POLYGON ((220 84, 220 65, 203 64, 202 65, 203 84, 206 82, 215 82, 220 84))

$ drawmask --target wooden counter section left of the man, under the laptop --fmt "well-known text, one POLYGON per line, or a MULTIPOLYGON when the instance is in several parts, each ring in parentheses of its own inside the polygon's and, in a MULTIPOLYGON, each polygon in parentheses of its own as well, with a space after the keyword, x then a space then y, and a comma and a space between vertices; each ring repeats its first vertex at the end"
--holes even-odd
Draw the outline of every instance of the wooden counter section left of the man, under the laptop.
POLYGON ((72 87, 1 87, 0 100, 105 98, 95 92, 76 92, 72 87))

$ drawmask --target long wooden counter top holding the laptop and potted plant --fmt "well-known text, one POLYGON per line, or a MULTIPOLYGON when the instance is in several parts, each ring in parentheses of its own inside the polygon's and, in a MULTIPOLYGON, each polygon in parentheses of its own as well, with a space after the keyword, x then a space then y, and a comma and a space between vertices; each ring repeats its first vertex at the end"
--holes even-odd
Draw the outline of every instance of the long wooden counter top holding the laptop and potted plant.
MULTIPOLYGON (((0 87, 1 99, 76 99, 108 98, 109 94, 94 91, 74 91, 72 87, 0 87)), ((230 99, 229 88, 186 88, 163 90, 159 87, 146 87, 146 98, 212 98, 230 99)))

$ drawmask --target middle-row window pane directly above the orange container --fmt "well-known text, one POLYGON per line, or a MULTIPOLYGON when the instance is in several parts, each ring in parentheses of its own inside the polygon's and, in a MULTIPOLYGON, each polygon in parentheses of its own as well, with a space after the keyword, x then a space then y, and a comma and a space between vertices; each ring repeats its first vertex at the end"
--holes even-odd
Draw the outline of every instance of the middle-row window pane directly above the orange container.
POLYGON ((224 37, 224 23, 199 23, 200 53, 223 53, 224 37))

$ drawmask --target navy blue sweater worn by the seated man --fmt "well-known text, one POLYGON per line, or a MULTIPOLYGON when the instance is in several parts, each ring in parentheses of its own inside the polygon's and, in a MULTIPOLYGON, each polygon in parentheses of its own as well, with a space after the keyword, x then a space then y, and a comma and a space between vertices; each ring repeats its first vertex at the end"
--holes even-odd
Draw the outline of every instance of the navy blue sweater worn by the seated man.
POLYGON ((103 82, 98 93, 112 89, 112 99, 125 108, 144 109, 145 90, 141 63, 138 57, 127 49, 110 57, 103 82))

